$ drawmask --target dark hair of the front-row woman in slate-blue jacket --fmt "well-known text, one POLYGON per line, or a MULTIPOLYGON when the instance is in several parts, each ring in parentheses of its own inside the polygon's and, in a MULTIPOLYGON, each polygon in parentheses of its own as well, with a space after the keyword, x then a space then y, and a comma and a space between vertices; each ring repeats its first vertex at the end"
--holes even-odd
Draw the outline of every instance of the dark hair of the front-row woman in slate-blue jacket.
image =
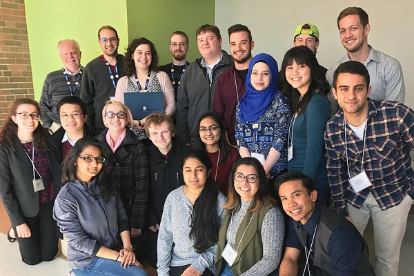
MULTIPOLYGON (((77 166, 75 164, 77 163, 79 155, 81 155, 83 150, 89 146, 95 146, 99 148, 102 157, 105 158, 101 142, 99 142, 97 139, 89 136, 79 139, 76 142, 75 146, 69 150, 68 155, 66 155, 66 158, 63 160, 61 181, 62 186, 68 182, 74 182, 76 180, 79 181, 77 178, 77 166)), ((95 176, 95 179, 97 179, 97 183, 99 185, 100 195, 102 195, 104 199, 108 200, 110 197, 112 197, 112 195, 115 195, 116 190, 115 186, 113 186, 112 178, 105 172, 105 168, 106 162, 103 162, 102 168, 95 176)))

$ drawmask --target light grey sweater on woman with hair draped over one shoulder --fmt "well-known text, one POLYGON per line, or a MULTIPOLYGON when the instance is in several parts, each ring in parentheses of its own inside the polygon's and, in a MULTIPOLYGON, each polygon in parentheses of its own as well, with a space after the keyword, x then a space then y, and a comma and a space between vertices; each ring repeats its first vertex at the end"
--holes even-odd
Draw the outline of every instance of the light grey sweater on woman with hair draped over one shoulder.
MULTIPOLYGON (((220 221, 224 217, 224 209, 221 208, 221 205, 225 201, 226 197, 219 193, 217 213, 220 221)), ((200 274, 203 274, 206 268, 215 273, 214 258, 217 244, 199 254, 193 248, 193 242, 189 238, 191 228, 188 221, 190 221, 192 210, 193 204, 184 195, 183 187, 173 190, 168 195, 158 234, 158 276, 168 276, 170 266, 185 266, 188 264, 191 264, 200 274)))

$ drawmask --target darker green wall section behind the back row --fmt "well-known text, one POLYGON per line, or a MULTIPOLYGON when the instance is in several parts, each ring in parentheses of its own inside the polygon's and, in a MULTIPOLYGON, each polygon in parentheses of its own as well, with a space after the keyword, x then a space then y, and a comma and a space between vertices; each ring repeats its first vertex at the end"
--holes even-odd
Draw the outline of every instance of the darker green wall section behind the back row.
POLYGON ((175 30, 186 32, 190 39, 188 61, 199 57, 195 30, 203 24, 215 23, 215 0, 126 0, 128 37, 130 41, 146 37, 155 44, 159 65, 170 63, 168 50, 170 34, 175 30))

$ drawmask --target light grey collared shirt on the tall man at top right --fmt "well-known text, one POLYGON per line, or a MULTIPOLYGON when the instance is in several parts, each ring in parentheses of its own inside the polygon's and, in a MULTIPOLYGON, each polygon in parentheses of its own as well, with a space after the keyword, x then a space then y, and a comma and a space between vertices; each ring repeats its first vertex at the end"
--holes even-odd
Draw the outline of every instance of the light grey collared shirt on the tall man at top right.
MULTIPOLYGON (((371 45, 368 58, 364 65, 369 72, 372 86, 371 99, 400 101, 404 103, 405 86, 400 62, 383 52, 374 50, 371 45)), ((350 61, 348 53, 326 72, 326 79, 333 87, 333 73, 339 64, 350 61)))

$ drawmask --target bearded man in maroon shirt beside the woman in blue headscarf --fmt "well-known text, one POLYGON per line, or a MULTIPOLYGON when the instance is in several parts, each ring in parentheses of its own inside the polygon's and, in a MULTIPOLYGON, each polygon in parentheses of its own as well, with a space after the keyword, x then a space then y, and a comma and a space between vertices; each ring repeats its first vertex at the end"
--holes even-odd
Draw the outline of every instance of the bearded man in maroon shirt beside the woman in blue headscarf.
POLYGON ((252 59, 255 41, 250 30, 236 24, 228 28, 230 55, 233 65, 217 79, 213 110, 223 119, 228 144, 237 146, 235 138, 236 106, 246 91, 248 63, 252 59))

